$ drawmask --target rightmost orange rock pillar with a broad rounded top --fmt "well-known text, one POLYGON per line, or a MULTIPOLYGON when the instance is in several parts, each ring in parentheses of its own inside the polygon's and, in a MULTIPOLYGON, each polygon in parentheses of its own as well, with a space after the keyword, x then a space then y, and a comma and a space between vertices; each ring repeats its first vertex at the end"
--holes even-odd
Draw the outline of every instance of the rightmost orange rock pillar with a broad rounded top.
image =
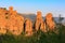
POLYGON ((50 28, 50 30, 53 30, 55 27, 55 23, 53 20, 52 13, 48 13, 46 16, 46 19, 47 19, 47 25, 50 28))

